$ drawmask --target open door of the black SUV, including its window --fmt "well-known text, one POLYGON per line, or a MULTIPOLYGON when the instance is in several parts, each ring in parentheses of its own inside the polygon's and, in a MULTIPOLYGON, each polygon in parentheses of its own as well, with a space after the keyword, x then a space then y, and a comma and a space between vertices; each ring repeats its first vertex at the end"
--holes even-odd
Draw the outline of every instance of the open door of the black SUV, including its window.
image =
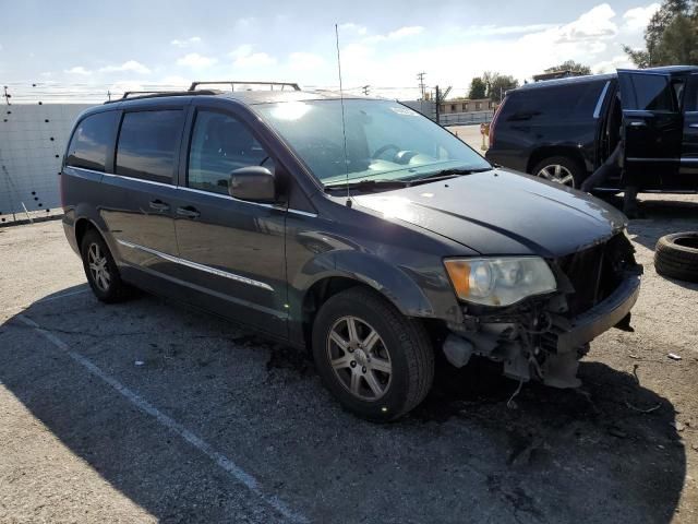
POLYGON ((683 116, 671 75, 618 70, 625 139, 624 182, 673 189, 683 138, 683 116))

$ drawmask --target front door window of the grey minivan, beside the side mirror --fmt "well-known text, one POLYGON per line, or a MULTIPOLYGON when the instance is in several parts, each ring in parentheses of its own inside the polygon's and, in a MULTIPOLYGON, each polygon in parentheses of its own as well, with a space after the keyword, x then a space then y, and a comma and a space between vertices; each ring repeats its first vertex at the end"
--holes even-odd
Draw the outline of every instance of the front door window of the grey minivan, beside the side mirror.
POLYGON ((198 111, 189 153, 188 187, 228 194, 230 174, 248 166, 274 171, 274 160, 242 122, 220 112, 198 111))

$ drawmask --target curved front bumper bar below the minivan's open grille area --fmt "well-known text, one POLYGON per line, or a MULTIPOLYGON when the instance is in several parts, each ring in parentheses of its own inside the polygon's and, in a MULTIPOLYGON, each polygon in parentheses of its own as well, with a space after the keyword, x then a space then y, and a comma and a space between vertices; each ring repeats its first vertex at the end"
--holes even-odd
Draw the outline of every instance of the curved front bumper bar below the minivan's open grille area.
POLYGON ((618 287, 603 301, 575 317, 557 338, 557 353, 567 353, 618 324, 633 309, 640 294, 639 273, 626 273, 618 287))

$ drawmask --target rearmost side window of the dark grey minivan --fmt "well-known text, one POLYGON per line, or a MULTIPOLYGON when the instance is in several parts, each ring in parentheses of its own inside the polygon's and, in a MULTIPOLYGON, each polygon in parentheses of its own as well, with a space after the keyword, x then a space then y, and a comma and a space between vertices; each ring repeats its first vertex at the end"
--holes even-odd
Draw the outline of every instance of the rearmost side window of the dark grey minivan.
POLYGON ((104 172, 107 153, 113 146, 116 130, 115 111, 98 112, 82 120, 68 146, 65 164, 104 172))

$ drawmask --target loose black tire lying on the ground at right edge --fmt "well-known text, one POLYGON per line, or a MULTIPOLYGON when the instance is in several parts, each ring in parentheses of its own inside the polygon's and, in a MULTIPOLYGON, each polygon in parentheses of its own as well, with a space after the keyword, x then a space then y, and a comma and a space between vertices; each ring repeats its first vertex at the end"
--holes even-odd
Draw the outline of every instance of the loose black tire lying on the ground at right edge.
POLYGON ((698 282, 698 231, 660 238, 654 249, 654 269, 670 278, 698 282))

